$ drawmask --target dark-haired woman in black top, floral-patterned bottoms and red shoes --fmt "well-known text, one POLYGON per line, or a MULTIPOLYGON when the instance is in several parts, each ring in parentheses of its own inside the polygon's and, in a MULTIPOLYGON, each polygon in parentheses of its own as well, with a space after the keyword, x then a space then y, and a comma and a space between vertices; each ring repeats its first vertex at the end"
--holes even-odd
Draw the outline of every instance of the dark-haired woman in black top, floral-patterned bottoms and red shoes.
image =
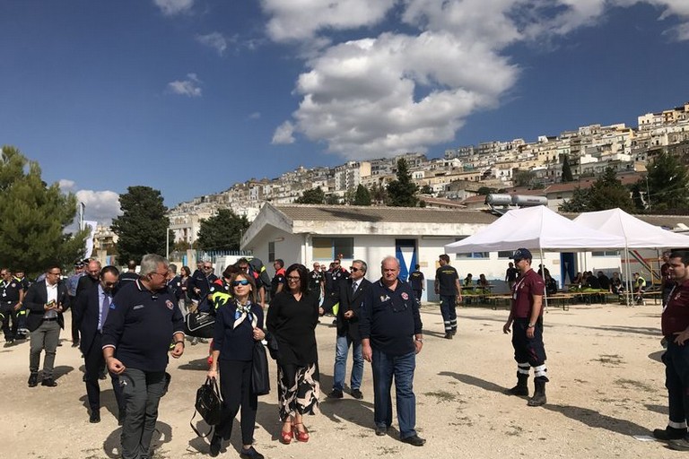
POLYGON ((286 270, 287 288, 275 295, 266 325, 278 347, 277 395, 283 429, 280 441, 309 441, 303 415, 318 412, 318 295, 309 292, 309 271, 303 264, 286 270))

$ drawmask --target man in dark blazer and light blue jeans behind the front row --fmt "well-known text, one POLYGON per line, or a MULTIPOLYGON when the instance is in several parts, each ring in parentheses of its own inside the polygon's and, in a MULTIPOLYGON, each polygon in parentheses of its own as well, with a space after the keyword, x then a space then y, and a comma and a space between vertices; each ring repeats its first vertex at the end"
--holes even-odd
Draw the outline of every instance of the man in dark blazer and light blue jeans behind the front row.
POLYGON ((337 340, 335 353, 335 371, 333 377, 333 391, 327 396, 330 398, 342 398, 342 389, 345 385, 347 371, 347 353, 352 348, 352 378, 350 389, 356 399, 363 397, 360 387, 363 378, 362 338, 359 334, 359 316, 362 300, 366 290, 371 285, 364 279, 366 275, 366 262, 354 260, 349 279, 340 282, 340 308, 337 311, 337 340))

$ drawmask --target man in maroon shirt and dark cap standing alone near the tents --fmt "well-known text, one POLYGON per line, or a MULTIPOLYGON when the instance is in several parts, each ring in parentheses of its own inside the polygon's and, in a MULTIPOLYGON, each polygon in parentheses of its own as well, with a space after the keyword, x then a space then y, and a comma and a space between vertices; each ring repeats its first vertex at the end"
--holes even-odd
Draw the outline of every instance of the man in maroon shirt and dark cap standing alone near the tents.
POLYGON ((512 307, 507 322, 502 326, 503 333, 512 331, 514 359, 517 360, 517 385, 508 389, 507 394, 528 396, 528 373, 534 368, 534 396, 528 399, 528 406, 541 406, 546 402, 545 383, 548 382, 548 369, 545 367, 545 346, 543 344, 543 278, 531 269, 533 256, 526 248, 518 248, 510 256, 519 269, 512 289, 512 307))

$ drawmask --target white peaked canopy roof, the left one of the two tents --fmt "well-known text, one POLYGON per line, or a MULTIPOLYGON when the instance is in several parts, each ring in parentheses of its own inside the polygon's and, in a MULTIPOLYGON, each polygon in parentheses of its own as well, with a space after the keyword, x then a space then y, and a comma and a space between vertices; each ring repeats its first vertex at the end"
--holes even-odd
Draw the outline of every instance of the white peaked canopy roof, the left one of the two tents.
POLYGON ((591 230, 539 205, 505 213, 475 235, 448 244, 445 253, 497 252, 519 247, 584 252, 595 248, 622 248, 624 238, 591 230))

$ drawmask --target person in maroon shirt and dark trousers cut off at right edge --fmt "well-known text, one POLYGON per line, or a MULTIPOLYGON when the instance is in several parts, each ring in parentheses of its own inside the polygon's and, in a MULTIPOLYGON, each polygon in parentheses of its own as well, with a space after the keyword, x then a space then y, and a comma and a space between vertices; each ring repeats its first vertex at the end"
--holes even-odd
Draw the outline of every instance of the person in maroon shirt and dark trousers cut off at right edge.
POLYGON ((653 430, 653 437, 669 440, 672 449, 689 451, 686 430, 689 417, 689 249, 673 251, 667 263, 669 273, 676 281, 660 316, 663 341, 667 342, 662 360, 669 420, 665 429, 653 430))

